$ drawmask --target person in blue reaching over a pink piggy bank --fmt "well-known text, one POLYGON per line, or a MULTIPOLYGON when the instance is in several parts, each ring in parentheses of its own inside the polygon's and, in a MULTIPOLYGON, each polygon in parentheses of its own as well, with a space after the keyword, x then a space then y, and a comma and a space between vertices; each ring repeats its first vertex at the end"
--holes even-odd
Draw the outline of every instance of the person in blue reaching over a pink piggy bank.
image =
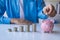
POLYGON ((0 0, 0 24, 38 23, 38 19, 47 19, 55 16, 53 5, 45 5, 44 0, 0 0), (20 6, 23 8, 24 19, 20 18, 20 6), (8 17, 4 17, 6 12, 8 17))

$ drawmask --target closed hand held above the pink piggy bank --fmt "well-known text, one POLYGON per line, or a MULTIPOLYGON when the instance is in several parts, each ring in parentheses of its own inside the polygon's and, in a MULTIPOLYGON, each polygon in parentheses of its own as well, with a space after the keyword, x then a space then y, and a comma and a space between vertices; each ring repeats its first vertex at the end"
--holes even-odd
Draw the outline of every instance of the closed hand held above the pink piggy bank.
POLYGON ((50 17, 54 17, 56 15, 55 7, 52 4, 45 6, 43 8, 43 12, 50 17))

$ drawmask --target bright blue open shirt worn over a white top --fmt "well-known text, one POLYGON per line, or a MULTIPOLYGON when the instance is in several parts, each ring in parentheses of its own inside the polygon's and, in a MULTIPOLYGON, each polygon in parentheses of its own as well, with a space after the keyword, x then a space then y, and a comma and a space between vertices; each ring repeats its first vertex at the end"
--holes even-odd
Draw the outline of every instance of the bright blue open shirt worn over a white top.
MULTIPOLYGON (((38 18, 46 19, 48 16, 42 12, 45 3, 43 0, 23 0, 24 18, 33 23, 38 22, 38 18)), ((0 24, 10 24, 11 18, 20 18, 19 0, 0 0, 0 24), (8 18, 3 14, 6 11, 8 18)))

